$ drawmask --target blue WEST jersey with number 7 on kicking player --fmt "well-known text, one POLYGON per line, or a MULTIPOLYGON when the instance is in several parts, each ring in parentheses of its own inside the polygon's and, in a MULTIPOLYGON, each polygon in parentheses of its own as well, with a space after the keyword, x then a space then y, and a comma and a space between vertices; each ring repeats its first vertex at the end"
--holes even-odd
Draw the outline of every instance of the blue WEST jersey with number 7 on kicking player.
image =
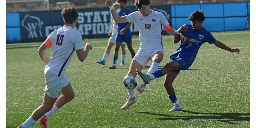
POLYGON ((204 27, 200 30, 194 30, 192 24, 186 24, 186 26, 188 27, 188 30, 181 33, 187 37, 187 41, 183 45, 180 44, 180 47, 170 56, 170 58, 184 58, 192 64, 196 59, 196 54, 200 46, 205 42, 213 44, 216 39, 204 27))

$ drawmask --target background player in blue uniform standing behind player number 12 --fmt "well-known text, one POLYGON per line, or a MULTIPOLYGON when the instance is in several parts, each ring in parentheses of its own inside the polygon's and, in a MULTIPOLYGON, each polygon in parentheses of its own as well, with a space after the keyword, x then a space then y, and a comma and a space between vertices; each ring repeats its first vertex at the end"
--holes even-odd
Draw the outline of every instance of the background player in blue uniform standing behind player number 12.
MULTIPOLYGON (((127 3, 127 0, 117 0, 120 8, 116 10, 116 13, 121 17, 124 15, 128 15, 131 13, 131 10, 129 8, 125 7, 125 4, 127 3)), ((117 23, 117 22, 116 22, 117 23)), ((131 22, 124 22, 124 23, 118 23, 118 34, 116 36, 116 47, 115 47, 115 52, 114 52, 114 57, 113 57, 113 65, 109 67, 110 69, 115 69, 116 68, 116 60, 118 57, 118 51, 120 48, 121 43, 124 41, 127 44, 127 47, 129 51, 132 54, 132 58, 135 56, 135 52, 132 48, 132 34, 130 31, 130 26, 131 22)), ((124 65, 124 61, 122 61, 121 65, 124 65)))

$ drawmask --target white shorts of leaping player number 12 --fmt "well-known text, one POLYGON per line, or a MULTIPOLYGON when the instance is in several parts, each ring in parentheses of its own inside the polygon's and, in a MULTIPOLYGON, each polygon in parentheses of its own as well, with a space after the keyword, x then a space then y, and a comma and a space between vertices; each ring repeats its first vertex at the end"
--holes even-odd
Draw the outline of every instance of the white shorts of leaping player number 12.
POLYGON ((139 48, 138 52, 136 53, 136 55, 133 57, 132 60, 136 60, 140 65, 145 67, 148 61, 151 60, 151 57, 155 55, 155 53, 158 51, 164 53, 164 48, 163 47, 156 47, 152 49, 139 48))

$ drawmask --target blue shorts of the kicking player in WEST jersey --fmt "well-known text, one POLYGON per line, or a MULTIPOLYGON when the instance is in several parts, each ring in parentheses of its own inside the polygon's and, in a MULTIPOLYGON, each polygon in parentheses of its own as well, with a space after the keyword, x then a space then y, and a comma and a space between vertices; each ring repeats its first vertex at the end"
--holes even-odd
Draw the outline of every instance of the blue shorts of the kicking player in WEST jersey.
POLYGON ((179 69, 178 70, 173 70, 173 72, 179 74, 180 70, 187 70, 192 64, 190 64, 190 62, 184 58, 171 58, 171 60, 168 62, 172 62, 172 61, 177 61, 179 63, 179 69))

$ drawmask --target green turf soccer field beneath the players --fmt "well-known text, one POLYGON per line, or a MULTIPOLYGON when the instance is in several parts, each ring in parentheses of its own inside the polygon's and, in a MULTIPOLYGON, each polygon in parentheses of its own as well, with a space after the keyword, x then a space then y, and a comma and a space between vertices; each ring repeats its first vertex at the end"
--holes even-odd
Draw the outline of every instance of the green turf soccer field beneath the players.
MULTIPOLYGON (((75 91, 75 99, 61 107, 47 121, 49 128, 245 128, 250 127, 250 31, 212 33, 240 54, 201 46, 193 65, 180 71, 173 86, 182 110, 168 112, 172 103, 164 88, 164 77, 153 80, 141 94, 135 92, 137 103, 127 110, 120 108, 128 98, 123 78, 128 72, 131 53, 126 49, 126 65, 109 69, 112 48, 106 65, 101 60, 108 38, 85 39, 93 49, 80 62, 74 53, 66 76, 75 91)), ((164 60, 169 61, 179 44, 173 36, 163 36, 164 60)), ((134 51, 139 37, 132 38, 134 51)), ((6 44, 6 128, 22 124, 43 100, 44 62, 37 50, 41 43, 6 44), (21 46, 21 47, 20 47, 21 46), (32 46, 32 47, 30 47, 32 46)), ((127 46, 126 46, 127 48, 127 46)), ((50 57, 50 49, 47 51, 50 57)), ((151 62, 142 71, 147 72, 151 62)), ((138 77, 138 76, 137 76, 138 77)), ((138 77, 139 83, 141 78, 138 77)), ((32 128, 39 128, 36 122, 32 128)))

